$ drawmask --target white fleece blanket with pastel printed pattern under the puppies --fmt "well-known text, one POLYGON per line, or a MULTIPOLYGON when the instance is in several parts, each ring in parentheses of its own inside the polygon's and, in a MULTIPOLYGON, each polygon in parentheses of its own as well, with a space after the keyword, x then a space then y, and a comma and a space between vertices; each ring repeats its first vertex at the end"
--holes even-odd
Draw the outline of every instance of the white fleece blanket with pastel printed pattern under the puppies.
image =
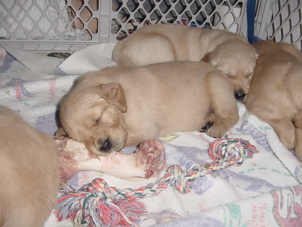
MULTIPOLYGON (((58 129, 59 102, 79 74, 112 66, 114 44, 97 44, 62 59, 0 47, 0 104, 13 109, 38 130, 54 135, 58 129)), ((140 199, 146 205, 137 222, 141 227, 175 226, 302 226, 302 165, 278 140, 272 128, 238 103, 240 121, 228 136, 242 138, 259 151, 242 166, 231 166, 196 179, 192 191, 181 194, 172 187, 140 199)), ((175 133, 160 138, 166 163, 184 172, 211 162, 207 154, 214 141, 200 132, 175 133)), ((127 150, 124 150, 127 152, 127 150)), ((119 189, 137 189, 163 176, 129 182, 98 172, 81 172, 69 180, 73 188, 96 177, 119 189)), ((34 192, 33 192, 34 193, 34 192)), ((45 227, 72 226, 51 215, 45 227)))

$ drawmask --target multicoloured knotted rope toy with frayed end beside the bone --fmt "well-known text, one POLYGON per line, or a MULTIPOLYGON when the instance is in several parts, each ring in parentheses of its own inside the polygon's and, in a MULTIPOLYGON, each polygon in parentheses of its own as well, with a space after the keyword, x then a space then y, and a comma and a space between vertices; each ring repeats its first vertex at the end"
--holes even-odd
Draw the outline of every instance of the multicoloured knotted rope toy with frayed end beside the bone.
POLYGON ((196 166, 188 173, 184 173, 180 166, 172 165, 159 181, 139 189, 109 187, 103 179, 96 178, 79 190, 62 192, 55 215, 59 221, 71 219, 74 224, 87 227, 139 227, 135 222, 145 211, 144 204, 136 199, 156 196, 168 186, 180 193, 188 193, 195 179, 232 165, 240 166, 246 158, 251 158, 257 152, 249 141, 218 139, 208 149, 209 156, 214 160, 211 163, 196 166))

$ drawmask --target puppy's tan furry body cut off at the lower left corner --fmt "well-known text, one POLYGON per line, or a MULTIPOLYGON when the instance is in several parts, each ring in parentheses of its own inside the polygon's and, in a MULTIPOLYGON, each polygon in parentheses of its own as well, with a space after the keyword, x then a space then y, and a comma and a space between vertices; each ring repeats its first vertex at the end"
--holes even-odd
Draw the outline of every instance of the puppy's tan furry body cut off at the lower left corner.
POLYGON ((59 189, 54 140, 0 105, 0 226, 41 227, 59 189))

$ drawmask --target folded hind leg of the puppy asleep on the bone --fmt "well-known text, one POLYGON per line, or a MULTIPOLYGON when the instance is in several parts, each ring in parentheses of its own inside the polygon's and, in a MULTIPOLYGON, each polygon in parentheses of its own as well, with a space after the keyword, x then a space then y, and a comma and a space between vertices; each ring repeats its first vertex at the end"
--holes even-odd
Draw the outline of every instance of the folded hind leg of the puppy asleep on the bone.
POLYGON ((201 131, 214 138, 225 135, 239 120, 238 107, 231 85, 217 71, 207 74, 212 113, 204 119, 201 131))

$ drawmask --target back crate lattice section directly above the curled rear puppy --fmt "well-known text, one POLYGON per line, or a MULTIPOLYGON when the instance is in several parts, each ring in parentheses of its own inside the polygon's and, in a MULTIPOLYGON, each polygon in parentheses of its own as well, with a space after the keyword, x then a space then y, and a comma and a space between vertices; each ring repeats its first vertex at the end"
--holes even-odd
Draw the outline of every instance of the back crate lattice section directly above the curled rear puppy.
POLYGON ((179 23, 242 31, 246 0, 113 0, 110 41, 145 24, 179 23))

